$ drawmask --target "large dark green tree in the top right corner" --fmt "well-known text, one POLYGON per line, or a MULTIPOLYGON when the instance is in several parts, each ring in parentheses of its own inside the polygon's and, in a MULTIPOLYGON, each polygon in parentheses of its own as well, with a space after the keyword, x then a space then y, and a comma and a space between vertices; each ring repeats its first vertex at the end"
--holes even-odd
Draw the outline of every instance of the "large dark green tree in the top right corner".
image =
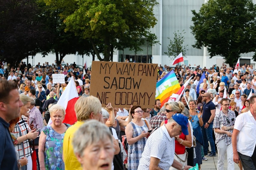
POLYGON ((255 52, 256 6, 251 0, 209 0, 192 13, 193 47, 207 47, 210 58, 223 56, 233 66, 241 53, 255 52))

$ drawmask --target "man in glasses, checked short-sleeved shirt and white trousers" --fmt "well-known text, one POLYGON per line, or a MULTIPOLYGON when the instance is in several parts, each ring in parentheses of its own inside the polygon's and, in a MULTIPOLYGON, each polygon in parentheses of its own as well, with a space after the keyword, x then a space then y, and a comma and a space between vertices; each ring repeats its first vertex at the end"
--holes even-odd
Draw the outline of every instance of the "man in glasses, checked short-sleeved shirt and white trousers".
POLYGON ((216 113, 213 121, 215 133, 215 143, 218 150, 218 169, 224 169, 224 158, 227 152, 228 170, 235 169, 233 161, 233 147, 231 136, 234 129, 236 115, 229 110, 230 100, 227 98, 221 99, 221 111, 216 113))

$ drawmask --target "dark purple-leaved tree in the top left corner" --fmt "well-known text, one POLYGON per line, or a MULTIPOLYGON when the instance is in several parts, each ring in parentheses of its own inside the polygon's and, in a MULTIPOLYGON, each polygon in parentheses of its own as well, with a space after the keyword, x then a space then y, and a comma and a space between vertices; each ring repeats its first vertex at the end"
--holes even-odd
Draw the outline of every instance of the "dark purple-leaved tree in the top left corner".
POLYGON ((38 17, 35 0, 1 0, 0 60, 18 66, 20 60, 35 55, 47 37, 38 17))

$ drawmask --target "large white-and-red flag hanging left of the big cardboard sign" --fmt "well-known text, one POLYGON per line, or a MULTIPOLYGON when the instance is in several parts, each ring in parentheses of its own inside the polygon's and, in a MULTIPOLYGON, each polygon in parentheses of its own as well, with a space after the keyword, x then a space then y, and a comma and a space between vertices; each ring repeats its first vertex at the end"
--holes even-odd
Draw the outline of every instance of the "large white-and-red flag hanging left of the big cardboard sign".
MULTIPOLYGON (((77 122, 76 113, 75 113, 75 103, 78 100, 79 96, 75 86, 75 81, 73 78, 70 79, 69 84, 66 86, 64 92, 60 96, 57 104, 63 106, 66 110, 66 115, 63 120, 63 123, 73 125, 77 122)), ((48 125, 52 124, 50 119, 48 125)))

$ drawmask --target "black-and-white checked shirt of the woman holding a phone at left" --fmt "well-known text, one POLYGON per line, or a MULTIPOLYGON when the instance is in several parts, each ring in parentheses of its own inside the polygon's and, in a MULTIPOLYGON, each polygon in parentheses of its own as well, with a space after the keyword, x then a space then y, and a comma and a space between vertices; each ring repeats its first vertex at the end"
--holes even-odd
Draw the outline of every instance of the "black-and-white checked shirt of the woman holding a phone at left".
MULTIPOLYGON (((26 135, 28 133, 28 131, 30 130, 25 116, 21 117, 21 119, 18 122, 18 125, 19 125, 22 136, 26 135)), ((17 127, 17 124, 14 127, 14 133, 17 134, 18 137, 20 137, 20 133, 19 133, 19 129, 17 127)), ((29 146, 29 139, 26 139, 25 141, 16 145, 15 149, 19 152, 20 158, 22 158, 24 156, 28 157, 32 154, 32 148, 29 146), (24 146, 25 153, 23 153, 22 145, 24 146)))

